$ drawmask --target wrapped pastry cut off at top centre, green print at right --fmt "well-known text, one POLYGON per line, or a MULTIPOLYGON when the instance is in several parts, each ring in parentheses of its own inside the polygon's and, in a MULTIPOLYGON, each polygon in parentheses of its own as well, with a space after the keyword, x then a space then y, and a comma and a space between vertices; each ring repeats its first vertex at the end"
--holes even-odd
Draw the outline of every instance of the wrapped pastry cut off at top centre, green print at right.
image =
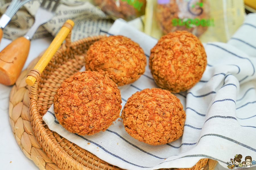
POLYGON ((146 0, 93 0, 112 19, 133 20, 145 14, 146 0))

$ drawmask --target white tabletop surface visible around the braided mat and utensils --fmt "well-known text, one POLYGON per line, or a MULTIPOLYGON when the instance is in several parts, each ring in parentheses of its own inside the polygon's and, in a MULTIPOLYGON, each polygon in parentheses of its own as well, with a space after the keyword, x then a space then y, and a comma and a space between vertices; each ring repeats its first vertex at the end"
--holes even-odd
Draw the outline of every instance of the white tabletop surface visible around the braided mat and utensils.
MULTIPOLYGON (((28 59, 23 67, 26 68, 28 64, 36 58, 44 49, 46 49, 52 38, 44 38, 31 41, 30 52, 28 59)), ((11 41, 2 39, 0 44, 0 51, 7 46, 11 41)), ((3 170, 38 170, 39 168, 34 162, 28 159, 13 136, 11 126, 9 123, 9 94, 12 86, 5 86, 0 84, 0 169, 3 170)), ((221 165, 217 165, 214 170, 224 170, 221 165)), ((251 167, 251 170, 256 170, 256 167, 251 167)))

